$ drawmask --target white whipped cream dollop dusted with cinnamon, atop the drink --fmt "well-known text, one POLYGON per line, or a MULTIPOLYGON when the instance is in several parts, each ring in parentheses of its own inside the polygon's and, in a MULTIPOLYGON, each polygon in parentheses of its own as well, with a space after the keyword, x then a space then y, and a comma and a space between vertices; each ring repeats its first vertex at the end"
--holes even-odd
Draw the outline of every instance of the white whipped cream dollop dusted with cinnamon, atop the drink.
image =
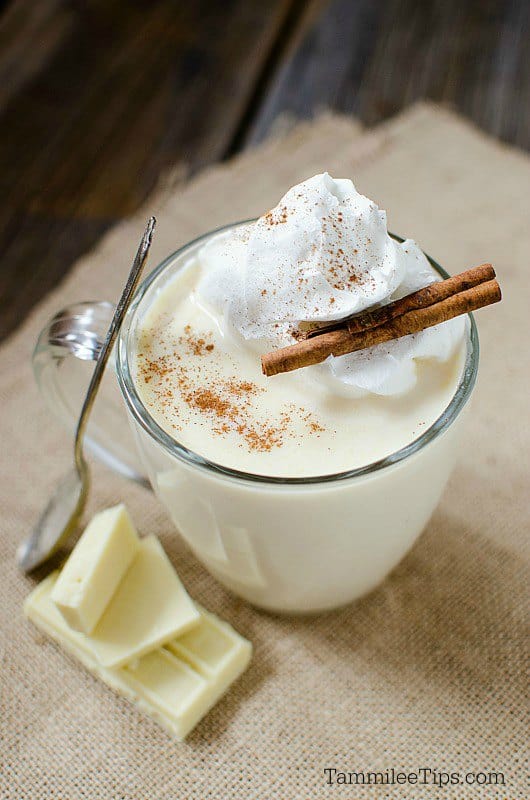
MULTIPOLYGON (((342 319, 436 280, 413 240, 388 235, 384 211, 327 173, 294 186, 256 222, 214 237, 199 259, 198 302, 257 353, 293 344, 300 323, 342 319)), ((457 317, 301 372, 340 395, 402 394, 416 384, 419 361, 451 358, 466 324, 457 317)))

